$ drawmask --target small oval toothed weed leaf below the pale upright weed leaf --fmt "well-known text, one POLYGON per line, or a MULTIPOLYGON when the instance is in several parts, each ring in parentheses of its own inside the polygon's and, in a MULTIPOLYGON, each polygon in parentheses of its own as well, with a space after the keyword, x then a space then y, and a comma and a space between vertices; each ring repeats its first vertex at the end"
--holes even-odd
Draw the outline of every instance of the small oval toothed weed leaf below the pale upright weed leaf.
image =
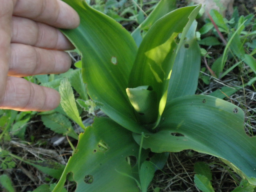
POLYGON ((41 116, 43 124, 50 128, 53 132, 58 134, 68 135, 76 140, 78 140, 78 134, 74 132, 74 128, 71 125, 70 120, 60 114, 60 113, 53 113, 49 115, 41 116))

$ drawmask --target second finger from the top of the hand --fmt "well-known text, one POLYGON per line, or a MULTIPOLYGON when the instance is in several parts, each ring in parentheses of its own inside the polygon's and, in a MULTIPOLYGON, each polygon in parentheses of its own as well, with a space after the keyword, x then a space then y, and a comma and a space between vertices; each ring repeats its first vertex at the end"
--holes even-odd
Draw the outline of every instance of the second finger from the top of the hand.
POLYGON ((16 16, 12 17, 12 42, 48 49, 74 49, 58 29, 16 16))

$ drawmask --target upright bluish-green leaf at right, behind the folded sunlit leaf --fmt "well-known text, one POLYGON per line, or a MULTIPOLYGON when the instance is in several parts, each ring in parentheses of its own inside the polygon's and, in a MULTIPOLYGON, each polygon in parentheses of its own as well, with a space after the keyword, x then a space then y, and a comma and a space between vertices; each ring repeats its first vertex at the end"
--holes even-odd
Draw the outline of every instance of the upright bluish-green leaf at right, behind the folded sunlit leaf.
POLYGON ((197 22, 194 21, 175 58, 167 101, 180 96, 193 95, 196 92, 201 67, 201 51, 196 39, 196 27, 197 22))

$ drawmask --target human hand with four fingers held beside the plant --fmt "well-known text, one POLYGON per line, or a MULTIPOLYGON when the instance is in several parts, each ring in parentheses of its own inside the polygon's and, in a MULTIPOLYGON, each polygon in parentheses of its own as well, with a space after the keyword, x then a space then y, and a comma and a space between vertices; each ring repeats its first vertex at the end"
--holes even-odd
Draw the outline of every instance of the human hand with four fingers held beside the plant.
POLYGON ((0 108, 46 111, 60 103, 59 93, 24 76, 66 72, 74 48, 57 28, 76 28, 79 16, 61 0, 1 0, 0 108))

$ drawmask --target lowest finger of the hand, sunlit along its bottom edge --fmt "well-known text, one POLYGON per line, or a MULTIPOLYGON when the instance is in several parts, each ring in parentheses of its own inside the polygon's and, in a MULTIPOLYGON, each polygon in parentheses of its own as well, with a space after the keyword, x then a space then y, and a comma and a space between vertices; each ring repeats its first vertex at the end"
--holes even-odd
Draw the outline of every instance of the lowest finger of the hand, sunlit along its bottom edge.
POLYGON ((53 110, 60 104, 59 93, 28 82, 23 78, 8 77, 0 108, 19 111, 53 110))

